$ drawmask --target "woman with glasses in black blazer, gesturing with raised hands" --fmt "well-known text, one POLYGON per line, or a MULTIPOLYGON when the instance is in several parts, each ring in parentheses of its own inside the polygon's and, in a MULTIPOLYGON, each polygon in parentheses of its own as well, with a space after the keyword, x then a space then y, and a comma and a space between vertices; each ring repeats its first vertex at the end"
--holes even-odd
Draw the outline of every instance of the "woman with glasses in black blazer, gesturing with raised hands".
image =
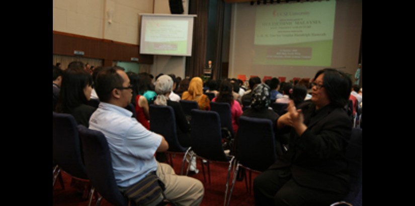
POLYGON ((277 121, 281 133, 291 132, 289 149, 254 180, 256 205, 329 205, 349 192, 345 150, 352 124, 344 106, 351 80, 335 69, 314 79, 312 103, 297 110, 291 101, 277 121))

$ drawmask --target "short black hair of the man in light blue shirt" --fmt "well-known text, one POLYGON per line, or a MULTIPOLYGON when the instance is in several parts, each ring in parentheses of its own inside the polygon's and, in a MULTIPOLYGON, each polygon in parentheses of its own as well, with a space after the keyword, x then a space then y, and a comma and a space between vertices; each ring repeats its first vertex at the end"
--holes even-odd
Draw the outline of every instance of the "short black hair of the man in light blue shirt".
POLYGON ((111 92, 116 87, 122 87, 124 80, 117 73, 117 70, 120 70, 116 67, 110 67, 108 69, 103 69, 98 73, 97 79, 95 81, 95 91, 97 92, 100 101, 109 102, 111 99, 111 92))

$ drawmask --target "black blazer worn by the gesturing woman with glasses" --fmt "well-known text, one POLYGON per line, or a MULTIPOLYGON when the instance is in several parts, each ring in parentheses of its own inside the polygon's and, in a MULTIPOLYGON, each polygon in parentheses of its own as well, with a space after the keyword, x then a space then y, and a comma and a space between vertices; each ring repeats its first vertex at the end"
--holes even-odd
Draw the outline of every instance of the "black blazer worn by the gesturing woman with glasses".
POLYGON ((352 123, 343 108, 328 105, 302 109, 307 130, 298 136, 291 130, 289 150, 270 169, 290 168, 300 185, 340 193, 349 191, 346 147, 352 123))

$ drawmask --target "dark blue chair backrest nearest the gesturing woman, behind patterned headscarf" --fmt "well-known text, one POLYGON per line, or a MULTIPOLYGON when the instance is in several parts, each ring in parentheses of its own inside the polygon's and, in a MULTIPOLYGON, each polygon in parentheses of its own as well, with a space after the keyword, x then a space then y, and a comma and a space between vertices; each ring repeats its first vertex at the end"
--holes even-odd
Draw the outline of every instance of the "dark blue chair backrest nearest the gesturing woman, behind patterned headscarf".
POLYGON ((248 168, 266 170, 277 160, 274 138, 271 120, 241 116, 236 136, 236 159, 248 168))

